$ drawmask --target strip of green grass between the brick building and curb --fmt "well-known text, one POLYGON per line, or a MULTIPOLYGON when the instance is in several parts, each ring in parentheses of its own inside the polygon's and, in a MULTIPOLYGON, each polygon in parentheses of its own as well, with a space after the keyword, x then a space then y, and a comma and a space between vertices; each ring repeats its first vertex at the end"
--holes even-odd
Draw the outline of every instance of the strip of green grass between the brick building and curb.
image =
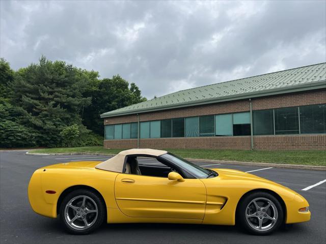
MULTIPOLYGON (((101 146, 46 148, 31 150, 31 153, 100 153, 117 154, 123 149, 105 149, 101 146)), ((249 151, 222 149, 165 149, 183 158, 213 159, 242 162, 277 164, 300 164, 326 166, 326 151, 249 151)))

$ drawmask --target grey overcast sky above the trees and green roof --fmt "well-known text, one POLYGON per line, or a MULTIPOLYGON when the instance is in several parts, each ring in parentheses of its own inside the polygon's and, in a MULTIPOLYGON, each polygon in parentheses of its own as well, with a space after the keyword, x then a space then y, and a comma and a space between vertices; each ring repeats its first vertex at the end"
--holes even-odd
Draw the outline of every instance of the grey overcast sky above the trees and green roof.
POLYGON ((326 62, 325 1, 1 1, 0 55, 120 74, 148 99, 326 62))

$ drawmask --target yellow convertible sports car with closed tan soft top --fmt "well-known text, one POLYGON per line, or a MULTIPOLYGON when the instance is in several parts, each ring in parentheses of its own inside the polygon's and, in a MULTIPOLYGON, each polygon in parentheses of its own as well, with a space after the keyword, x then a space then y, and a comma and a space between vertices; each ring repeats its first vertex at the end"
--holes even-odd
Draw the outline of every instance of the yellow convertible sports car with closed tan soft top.
POLYGON ((307 200, 284 186, 238 170, 204 169, 164 150, 130 149, 104 162, 42 167, 28 194, 35 212, 59 215, 74 234, 105 221, 237 224, 263 235, 310 220, 307 200))

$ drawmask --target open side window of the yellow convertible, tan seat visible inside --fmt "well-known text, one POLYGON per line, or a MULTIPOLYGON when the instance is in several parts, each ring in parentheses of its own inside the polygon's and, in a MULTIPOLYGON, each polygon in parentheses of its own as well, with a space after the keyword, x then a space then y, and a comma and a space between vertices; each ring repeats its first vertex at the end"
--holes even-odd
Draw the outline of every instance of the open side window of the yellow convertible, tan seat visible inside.
POLYGON ((174 169, 160 162, 155 157, 131 155, 127 157, 125 163, 126 174, 167 178, 171 171, 174 171, 174 169))

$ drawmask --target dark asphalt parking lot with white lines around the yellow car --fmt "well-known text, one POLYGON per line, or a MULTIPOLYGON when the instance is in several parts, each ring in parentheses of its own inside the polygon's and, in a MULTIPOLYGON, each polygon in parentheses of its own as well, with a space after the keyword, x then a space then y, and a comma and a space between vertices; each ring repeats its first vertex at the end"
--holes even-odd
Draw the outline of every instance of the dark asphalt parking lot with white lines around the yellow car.
MULTIPOLYGON (((107 156, 32 156, 25 151, 0 151, 1 243, 326 243, 325 171, 196 163, 207 168, 230 168, 274 180, 303 195, 310 203, 311 221, 283 228, 270 236, 253 236, 234 226, 182 224, 106 224, 98 231, 75 236, 56 219, 39 216, 30 207, 27 188, 42 166, 69 161, 104 161, 107 156)), ((142 162, 151 164, 152 162, 142 162)))

